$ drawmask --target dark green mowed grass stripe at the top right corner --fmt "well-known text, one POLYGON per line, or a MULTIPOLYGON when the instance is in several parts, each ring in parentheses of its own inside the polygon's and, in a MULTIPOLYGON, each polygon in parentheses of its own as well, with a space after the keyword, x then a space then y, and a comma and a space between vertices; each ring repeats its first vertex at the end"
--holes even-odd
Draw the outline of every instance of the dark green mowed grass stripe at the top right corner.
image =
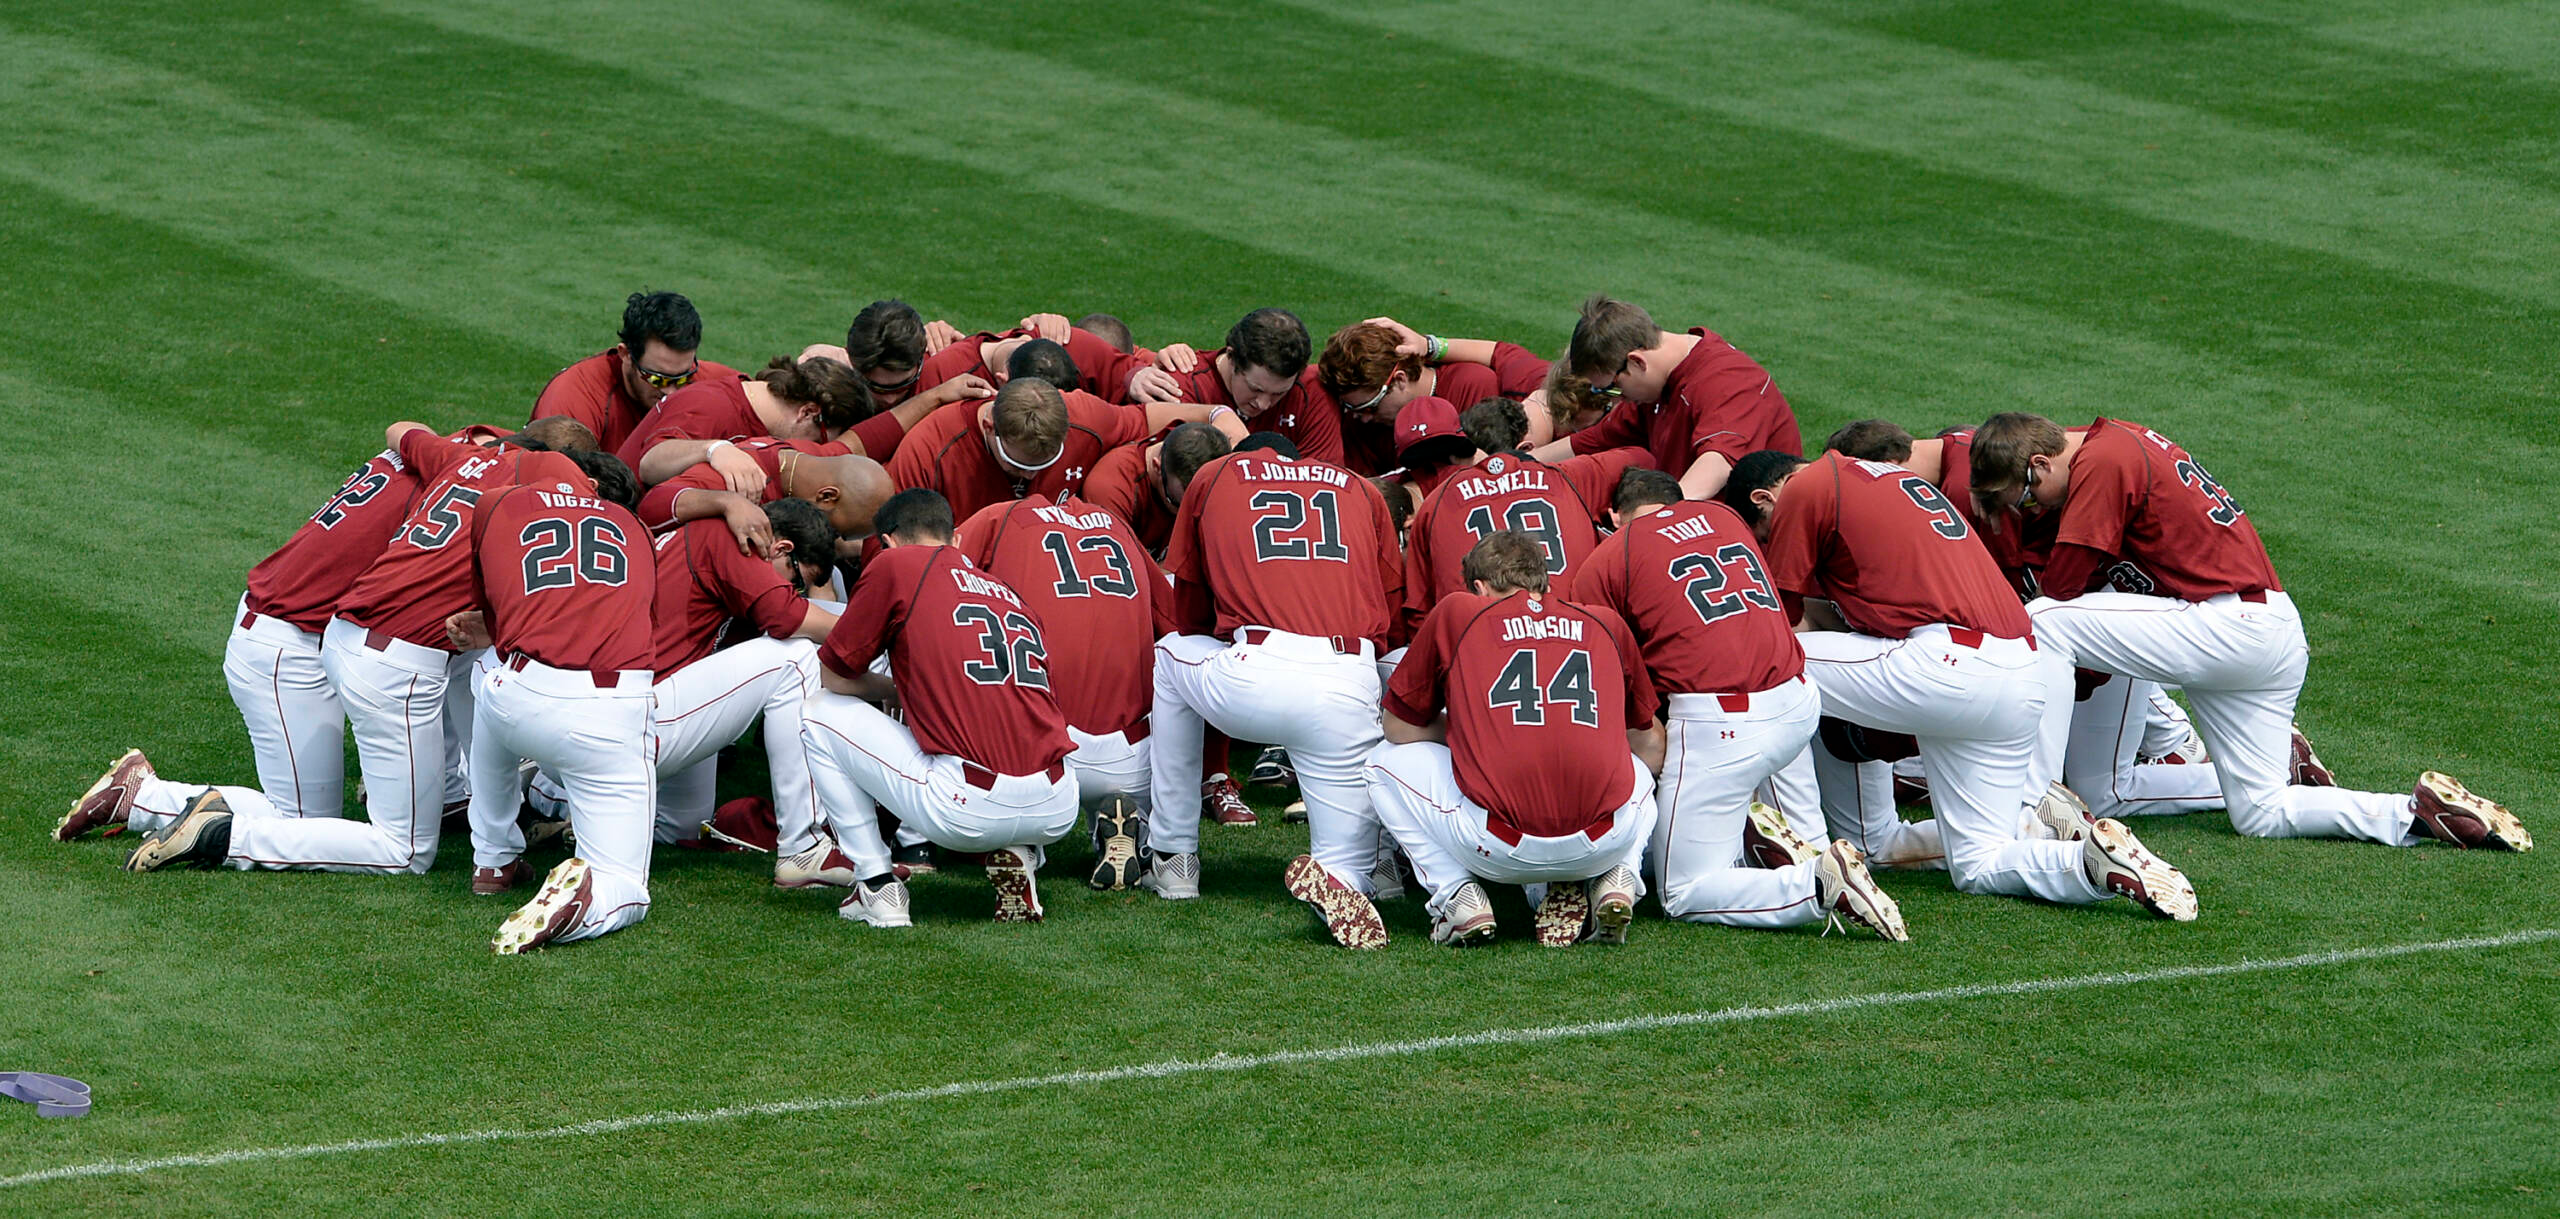
MULTIPOLYGON (((1795 8, 1787 0, 1779 5, 1795 8)), ((2442 61, 2409 54, 2429 46, 2424 26, 2432 23, 2391 28, 2396 46, 2381 49, 2324 38, 2317 26, 2291 18, 2168 0, 1976 0, 1905 13, 1815 0, 1810 8, 1897 38, 2025 64, 2253 128, 2299 131, 2342 149, 2491 174, 2537 192, 2560 187, 2560 166, 2550 159, 2560 143, 2560 82, 2547 77, 2552 31, 2537 28, 2529 10, 2506 20, 2501 41, 2522 49, 2542 33, 2540 74, 2522 72, 2514 59, 2483 64, 2478 56, 2442 61)), ((2481 13, 2468 13, 2473 28, 2481 20, 2481 13)), ((2409 223, 2429 223, 2424 215, 2435 207, 2481 202, 2473 184, 2463 177, 2424 192, 2424 207, 2406 207, 2409 223)))

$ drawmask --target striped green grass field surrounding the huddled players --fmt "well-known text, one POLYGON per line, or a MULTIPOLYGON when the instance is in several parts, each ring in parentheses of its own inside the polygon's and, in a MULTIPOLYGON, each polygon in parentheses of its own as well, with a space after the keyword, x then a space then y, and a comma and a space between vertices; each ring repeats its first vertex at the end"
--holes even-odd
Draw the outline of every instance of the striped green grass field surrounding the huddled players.
POLYGON ((1196 904, 1070 848, 1047 924, 942 876, 904 935, 671 855, 640 927, 492 958, 461 843, 125 876, 46 830, 125 745, 253 781, 241 574, 384 423, 520 420, 635 287, 745 366, 883 295, 1554 351, 1608 289, 1807 438, 2179 438, 2307 612, 2340 779, 2440 766, 2555 837, 2555 46, 2552 3, 0 5, 0 1070, 97 1088, 0 1106, 0 1214, 2550 1214, 2550 940, 1961 989, 2560 930, 2552 850, 2186 817, 2140 830, 2196 924, 1887 876, 1910 945, 1546 953, 1513 896, 1492 950, 1408 901, 1352 955, 1272 822, 1196 904), (596 1119, 640 1122, 558 1129, 596 1119), (502 1137, 420 1140, 458 1132, 502 1137), (351 1140, 389 1145, 269 1155, 351 1140))

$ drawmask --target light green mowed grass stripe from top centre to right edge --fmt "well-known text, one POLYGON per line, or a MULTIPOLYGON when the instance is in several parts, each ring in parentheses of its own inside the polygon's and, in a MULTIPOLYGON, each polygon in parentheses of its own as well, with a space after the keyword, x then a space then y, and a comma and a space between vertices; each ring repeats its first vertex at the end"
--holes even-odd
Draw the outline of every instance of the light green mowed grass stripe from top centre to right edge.
MULTIPOLYGON (((1679 123, 1659 113, 1669 105, 2394 277, 2542 307, 2560 302, 2560 274, 2534 256, 2560 236, 2555 182, 2458 177, 2396 146, 2378 154, 2327 133, 2225 118, 2179 105, 2176 90, 2145 95, 2122 77, 2163 64, 2125 54, 2097 31, 2079 31, 2076 46, 2089 49, 2084 61, 2112 72, 2074 79, 2061 69, 2079 61, 2020 67, 1966 46, 1923 46, 1751 5, 1700 10, 1646 0, 1613 8, 1610 23, 1590 23, 1533 0, 1469 5, 1467 20, 1428 8, 1288 3, 1398 36, 1362 56, 1405 56, 1413 38, 1426 38, 1510 59, 1516 72, 1641 95, 1656 110, 1646 123, 1679 123)), ((2248 74, 2199 77, 2232 90, 2263 85, 2248 74)), ((2432 143, 2450 138, 2429 133, 2432 143)), ((1715 164, 1748 179, 1746 156, 1718 151, 1715 164)), ((1713 192, 1710 182, 1700 187, 1713 192)))

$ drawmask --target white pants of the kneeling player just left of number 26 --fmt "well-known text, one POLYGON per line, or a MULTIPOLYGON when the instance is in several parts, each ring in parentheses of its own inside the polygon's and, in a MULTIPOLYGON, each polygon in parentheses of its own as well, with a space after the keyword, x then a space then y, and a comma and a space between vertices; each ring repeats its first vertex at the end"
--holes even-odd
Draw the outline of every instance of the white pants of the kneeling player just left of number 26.
POLYGON ((333 617, 320 640, 320 666, 356 730, 369 819, 233 817, 233 863, 371 873, 433 868, 438 822, 445 812, 451 661, 453 653, 394 638, 366 640, 364 627, 333 617))

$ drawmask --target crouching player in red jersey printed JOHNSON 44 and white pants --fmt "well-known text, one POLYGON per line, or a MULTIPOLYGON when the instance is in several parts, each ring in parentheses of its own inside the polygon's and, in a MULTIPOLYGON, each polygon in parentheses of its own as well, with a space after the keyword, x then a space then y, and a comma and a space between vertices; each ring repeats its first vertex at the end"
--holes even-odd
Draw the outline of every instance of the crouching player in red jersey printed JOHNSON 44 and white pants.
POLYGON ((1541 886, 1549 948, 1626 942, 1661 766, 1636 635, 1549 597, 1526 533, 1490 533, 1462 574, 1467 592, 1431 607, 1388 684, 1388 743, 1367 768, 1377 819, 1431 891, 1434 942, 1492 940, 1477 878, 1541 886))

